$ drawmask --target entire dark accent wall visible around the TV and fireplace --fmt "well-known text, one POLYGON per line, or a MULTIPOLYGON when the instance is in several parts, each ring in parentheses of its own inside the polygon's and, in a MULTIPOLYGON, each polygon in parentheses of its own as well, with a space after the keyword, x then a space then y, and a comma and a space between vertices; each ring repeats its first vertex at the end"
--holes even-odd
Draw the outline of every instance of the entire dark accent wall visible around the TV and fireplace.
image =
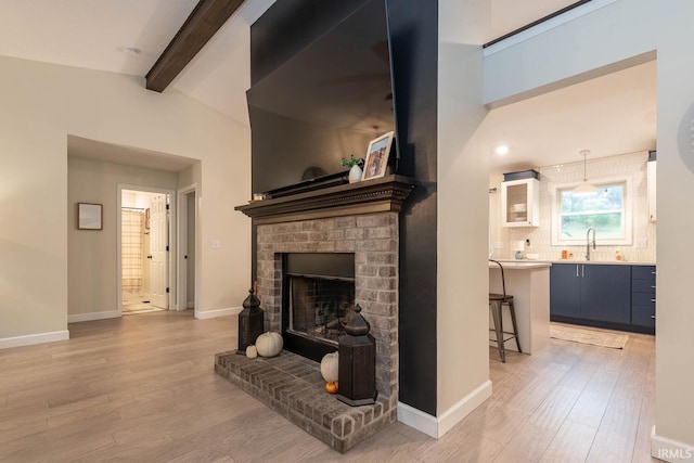
MULTIPOLYGON (((250 28, 252 82, 271 73, 365 1, 278 0, 250 28)), ((417 181, 400 214, 399 399, 436 415, 438 2, 388 0, 388 5, 401 140, 397 172, 417 181)), ((255 227, 253 236, 255 279, 255 227)))

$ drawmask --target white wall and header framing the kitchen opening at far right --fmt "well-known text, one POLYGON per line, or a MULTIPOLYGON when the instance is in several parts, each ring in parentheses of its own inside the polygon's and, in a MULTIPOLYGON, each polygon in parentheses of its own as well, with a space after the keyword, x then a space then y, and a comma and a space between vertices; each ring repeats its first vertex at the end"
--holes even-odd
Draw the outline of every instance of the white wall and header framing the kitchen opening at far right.
MULTIPOLYGON (((653 445, 694 446, 694 2, 622 0, 485 60, 486 101, 503 102, 657 51, 656 435, 653 445), (669 440, 668 440, 669 439, 669 440)), ((607 69, 605 69, 607 70, 607 69)))

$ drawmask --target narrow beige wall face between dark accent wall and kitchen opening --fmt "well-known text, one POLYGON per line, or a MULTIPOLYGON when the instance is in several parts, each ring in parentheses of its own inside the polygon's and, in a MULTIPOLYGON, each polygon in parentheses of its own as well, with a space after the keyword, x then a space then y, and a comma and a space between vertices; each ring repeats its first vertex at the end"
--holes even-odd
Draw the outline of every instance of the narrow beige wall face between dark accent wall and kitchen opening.
POLYGON ((481 49, 471 2, 439 1, 437 419, 440 437, 491 394, 486 224, 489 160, 479 155, 481 49), (484 271, 483 271, 484 270, 484 271), (461 297, 464 295, 464 297, 461 297), (464 352, 464 353, 463 353, 464 352))

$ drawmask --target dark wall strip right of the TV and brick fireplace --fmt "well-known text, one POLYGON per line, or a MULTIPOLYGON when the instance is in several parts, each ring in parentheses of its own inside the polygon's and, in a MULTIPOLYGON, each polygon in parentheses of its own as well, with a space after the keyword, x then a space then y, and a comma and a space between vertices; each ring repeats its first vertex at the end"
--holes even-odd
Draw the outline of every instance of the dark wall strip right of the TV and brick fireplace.
POLYGON ((400 214, 400 401, 436 416, 438 2, 389 0, 400 166, 417 185, 400 214))

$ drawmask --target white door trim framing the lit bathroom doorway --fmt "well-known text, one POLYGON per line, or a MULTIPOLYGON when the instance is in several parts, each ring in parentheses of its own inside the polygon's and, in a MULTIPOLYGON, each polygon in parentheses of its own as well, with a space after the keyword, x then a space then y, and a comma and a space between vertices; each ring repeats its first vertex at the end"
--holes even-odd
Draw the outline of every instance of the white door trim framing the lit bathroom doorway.
MULTIPOLYGON (((170 206, 170 216, 169 216, 169 249, 177 248, 176 242, 176 230, 175 227, 171 227, 171 223, 177 223, 177 194, 176 190, 162 189, 157 187, 143 187, 143 185, 133 185, 126 183, 118 183, 116 185, 116 210, 114 215, 116 216, 116 297, 117 297, 117 307, 118 307, 118 316, 123 316, 123 262, 121 262, 121 252, 123 252, 123 223, 121 223, 121 215, 120 209, 123 208, 123 190, 133 190, 133 191, 144 191, 147 193, 160 193, 168 194, 171 201, 170 206)), ((175 253, 169 252, 169 309, 176 304, 174 300, 177 294, 176 286, 176 266, 177 266, 177 256, 175 253)))

